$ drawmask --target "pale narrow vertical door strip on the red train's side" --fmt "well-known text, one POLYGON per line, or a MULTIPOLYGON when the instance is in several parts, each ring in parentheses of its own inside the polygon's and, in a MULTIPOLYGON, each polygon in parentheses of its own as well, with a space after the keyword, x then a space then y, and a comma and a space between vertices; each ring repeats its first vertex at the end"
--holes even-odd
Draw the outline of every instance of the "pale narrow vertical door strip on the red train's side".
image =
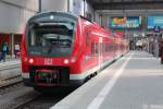
POLYGON ((99 37, 99 69, 102 68, 102 37, 99 37))

